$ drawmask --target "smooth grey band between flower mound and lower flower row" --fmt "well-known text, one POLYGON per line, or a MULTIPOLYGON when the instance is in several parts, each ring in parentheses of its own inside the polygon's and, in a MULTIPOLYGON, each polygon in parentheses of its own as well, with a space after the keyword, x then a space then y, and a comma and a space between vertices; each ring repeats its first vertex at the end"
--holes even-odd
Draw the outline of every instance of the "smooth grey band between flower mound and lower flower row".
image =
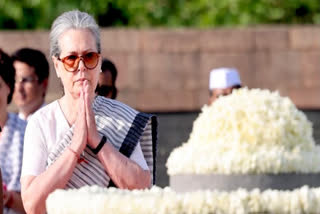
POLYGON ((238 188, 253 190, 293 190, 302 186, 320 187, 320 174, 250 174, 250 175, 175 175, 170 187, 177 192, 196 190, 232 191, 238 188))

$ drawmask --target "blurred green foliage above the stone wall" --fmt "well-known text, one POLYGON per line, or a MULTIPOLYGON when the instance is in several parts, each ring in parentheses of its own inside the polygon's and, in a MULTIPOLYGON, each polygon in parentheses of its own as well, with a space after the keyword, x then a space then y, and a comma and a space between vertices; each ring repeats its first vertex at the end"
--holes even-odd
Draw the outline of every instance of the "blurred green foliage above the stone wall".
POLYGON ((100 26, 320 24, 319 0, 0 0, 0 28, 48 29, 72 9, 94 15, 100 26))

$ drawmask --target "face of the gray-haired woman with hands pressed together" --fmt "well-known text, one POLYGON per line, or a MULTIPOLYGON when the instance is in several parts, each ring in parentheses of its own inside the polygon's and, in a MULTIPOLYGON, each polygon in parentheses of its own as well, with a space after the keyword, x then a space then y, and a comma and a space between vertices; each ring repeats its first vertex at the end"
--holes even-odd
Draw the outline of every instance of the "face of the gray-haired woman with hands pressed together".
MULTIPOLYGON (((84 56, 90 52, 97 53, 96 40, 93 34, 87 29, 70 29, 64 32, 59 38, 61 50, 60 59, 72 55, 72 57, 84 56)), ((57 76, 61 78, 65 94, 70 94, 73 98, 80 96, 84 80, 89 83, 90 94, 94 96, 99 73, 101 71, 101 57, 97 66, 93 69, 85 67, 83 59, 80 60, 78 68, 74 72, 67 71, 63 62, 53 57, 57 76)))

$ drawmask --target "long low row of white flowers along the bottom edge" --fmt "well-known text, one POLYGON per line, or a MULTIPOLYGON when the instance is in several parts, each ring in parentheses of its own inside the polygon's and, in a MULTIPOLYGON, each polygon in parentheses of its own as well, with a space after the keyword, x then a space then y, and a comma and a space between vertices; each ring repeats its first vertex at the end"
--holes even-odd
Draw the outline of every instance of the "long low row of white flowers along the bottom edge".
POLYGON ((320 213, 320 188, 178 194, 155 186, 134 191, 87 186, 56 190, 49 195, 46 207, 48 214, 320 213))

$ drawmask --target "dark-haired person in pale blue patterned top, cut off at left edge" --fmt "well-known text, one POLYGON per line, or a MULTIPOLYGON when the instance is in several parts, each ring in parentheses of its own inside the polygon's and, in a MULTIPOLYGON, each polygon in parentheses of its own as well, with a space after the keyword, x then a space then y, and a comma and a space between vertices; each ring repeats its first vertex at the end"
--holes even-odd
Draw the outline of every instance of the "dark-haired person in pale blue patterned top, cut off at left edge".
POLYGON ((26 122, 7 112, 14 90, 14 76, 11 58, 0 49, 0 167, 4 213, 24 213, 20 175, 26 122))

